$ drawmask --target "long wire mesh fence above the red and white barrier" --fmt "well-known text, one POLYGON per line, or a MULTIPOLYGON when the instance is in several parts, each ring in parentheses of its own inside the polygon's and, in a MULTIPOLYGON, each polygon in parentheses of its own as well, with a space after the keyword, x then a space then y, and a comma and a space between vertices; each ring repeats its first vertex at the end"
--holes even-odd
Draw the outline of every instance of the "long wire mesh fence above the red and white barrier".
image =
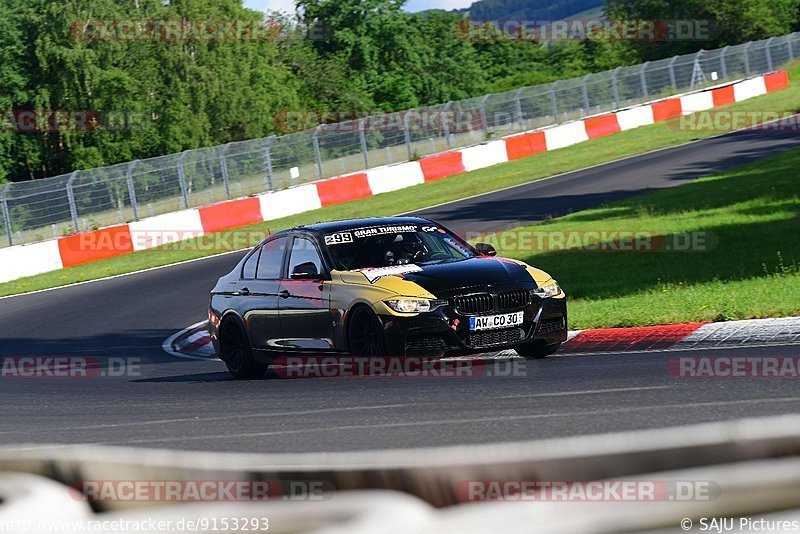
POLYGON ((0 188, 0 246, 408 161, 498 135, 764 74, 791 61, 798 52, 800 33, 792 33, 282 137, 12 183, 0 188), (415 127, 412 121, 427 126, 415 127))

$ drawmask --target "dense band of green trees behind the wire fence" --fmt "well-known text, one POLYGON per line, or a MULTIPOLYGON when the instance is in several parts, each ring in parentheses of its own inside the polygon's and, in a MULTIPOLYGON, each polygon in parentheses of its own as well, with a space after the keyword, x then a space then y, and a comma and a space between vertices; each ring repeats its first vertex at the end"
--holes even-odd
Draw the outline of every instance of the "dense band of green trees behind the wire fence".
MULTIPOLYGON (((785 33, 800 0, 608 0, 627 18, 706 18, 715 43, 569 41, 465 35, 464 12, 403 10, 405 0, 298 0, 269 39, 86 39, 97 21, 263 22, 242 0, 0 2, 0 182, 31 180, 283 134, 297 110, 398 111, 583 76, 785 33), (9 110, 91 111, 96 129, 15 132, 9 110)), ((596 0, 482 0, 473 19, 553 19, 596 0)), ((372 142, 372 140, 370 140, 372 142)), ((286 154, 289 161, 290 154, 286 154)))

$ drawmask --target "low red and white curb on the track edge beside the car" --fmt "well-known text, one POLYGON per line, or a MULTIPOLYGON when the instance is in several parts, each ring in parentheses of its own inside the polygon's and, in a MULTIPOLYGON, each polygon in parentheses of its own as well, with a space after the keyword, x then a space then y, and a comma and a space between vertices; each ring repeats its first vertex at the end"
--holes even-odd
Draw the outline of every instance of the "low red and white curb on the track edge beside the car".
MULTIPOLYGON (((573 331, 559 354, 658 352, 795 343, 800 344, 800 317, 573 331)), ((178 332, 164 342, 163 348, 177 358, 216 359, 205 322, 178 332)), ((493 353, 492 357, 513 355, 513 351, 503 351, 493 353)))

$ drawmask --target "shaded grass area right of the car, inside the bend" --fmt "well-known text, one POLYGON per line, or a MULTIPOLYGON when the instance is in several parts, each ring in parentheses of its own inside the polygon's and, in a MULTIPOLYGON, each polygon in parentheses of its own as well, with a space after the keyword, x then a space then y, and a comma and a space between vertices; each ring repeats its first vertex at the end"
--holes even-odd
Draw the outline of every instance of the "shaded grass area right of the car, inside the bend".
POLYGON ((800 314, 798 168, 800 150, 793 150, 489 237, 501 255, 559 280, 575 328, 800 314), (608 232, 606 243, 615 245, 613 232, 663 239, 648 251, 598 251, 587 250, 597 240, 586 232, 608 232))

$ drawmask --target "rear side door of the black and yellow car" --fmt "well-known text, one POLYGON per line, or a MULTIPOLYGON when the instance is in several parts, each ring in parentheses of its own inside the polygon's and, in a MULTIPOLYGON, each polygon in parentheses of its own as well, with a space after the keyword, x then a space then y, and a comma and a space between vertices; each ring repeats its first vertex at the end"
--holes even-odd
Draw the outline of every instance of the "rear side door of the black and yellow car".
MULTIPOLYGON (((261 246, 258 261, 245 263, 239 293, 242 317, 254 349, 275 350, 283 337, 278 305, 280 278, 289 238, 280 237, 261 246)), ((252 260, 252 258, 251 258, 252 260)))

